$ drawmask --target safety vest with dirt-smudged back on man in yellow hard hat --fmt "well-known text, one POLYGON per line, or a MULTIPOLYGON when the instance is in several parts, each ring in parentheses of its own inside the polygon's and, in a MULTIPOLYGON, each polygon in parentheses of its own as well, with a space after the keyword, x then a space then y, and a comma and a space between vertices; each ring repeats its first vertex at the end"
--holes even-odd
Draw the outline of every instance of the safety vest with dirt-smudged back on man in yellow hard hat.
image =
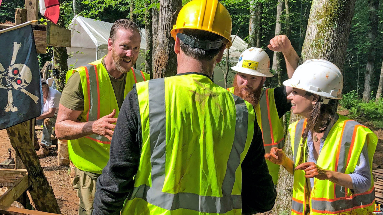
POLYGON ((136 87, 141 158, 121 214, 241 214, 252 105, 199 74, 136 87))

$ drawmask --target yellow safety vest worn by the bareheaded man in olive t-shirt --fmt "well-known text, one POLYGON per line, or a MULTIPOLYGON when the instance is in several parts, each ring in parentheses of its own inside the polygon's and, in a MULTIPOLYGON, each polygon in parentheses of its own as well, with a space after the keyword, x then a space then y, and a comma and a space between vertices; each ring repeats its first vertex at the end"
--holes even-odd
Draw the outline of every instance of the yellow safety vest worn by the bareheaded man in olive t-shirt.
MULTIPOLYGON (((118 117, 116 96, 108 71, 101 63, 102 59, 67 72, 66 81, 74 72, 80 74, 84 93, 84 110, 79 117, 81 122, 100 119, 110 114, 113 109, 116 109, 115 117, 118 117)), ((132 68, 126 74, 124 97, 133 88, 134 83, 149 79, 150 76, 147 73, 132 68)), ((110 140, 96 134, 77 140, 68 140, 69 158, 72 163, 77 168, 92 173, 101 174, 109 160, 109 147, 110 140)))

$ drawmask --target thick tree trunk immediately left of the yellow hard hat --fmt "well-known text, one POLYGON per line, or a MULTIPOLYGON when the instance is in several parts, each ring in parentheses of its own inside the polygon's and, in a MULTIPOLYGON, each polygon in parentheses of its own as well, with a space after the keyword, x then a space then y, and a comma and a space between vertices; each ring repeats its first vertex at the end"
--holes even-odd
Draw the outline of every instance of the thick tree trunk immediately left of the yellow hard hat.
POLYGON ((161 0, 158 18, 158 34, 153 62, 153 78, 173 76, 177 73, 177 57, 174 39, 170 31, 177 20, 182 0, 161 0))

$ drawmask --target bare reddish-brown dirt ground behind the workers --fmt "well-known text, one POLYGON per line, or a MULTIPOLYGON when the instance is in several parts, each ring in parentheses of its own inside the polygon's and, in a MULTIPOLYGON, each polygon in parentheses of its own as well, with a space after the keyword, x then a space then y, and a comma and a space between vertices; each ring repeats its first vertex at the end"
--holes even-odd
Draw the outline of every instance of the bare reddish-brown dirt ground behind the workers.
MULTIPOLYGON (((371 126, 365 123, 367 126, 371 126)), ((376 147, 375 156, 373 159, 372 169, 383 169, 383 130, 370 127, 378 136, 378 145, 376 147)), ((7 131, 0 130, 0 162, 8 157, 8 148, 12 148, 9 142, 7 131)), ((12 148, 12 156, 15 156, 15 151, 12 148)), ((77 192, 73 189, 70 180, 69 167, 57 165, 57 156, 51 155, 40 159, 44 174, 47 180, 52 184, 57 202, 61 208, 61 213, 65 215, 76 215, 78 211, 79 198, 77 192)), ((270 213, 259 213, 270 214, 270 213)))

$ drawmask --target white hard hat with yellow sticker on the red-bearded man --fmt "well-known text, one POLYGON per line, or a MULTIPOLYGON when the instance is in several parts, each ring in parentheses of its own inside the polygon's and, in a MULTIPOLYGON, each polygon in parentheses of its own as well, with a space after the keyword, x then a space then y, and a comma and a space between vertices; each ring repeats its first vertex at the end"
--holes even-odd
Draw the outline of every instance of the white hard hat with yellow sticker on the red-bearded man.
POLYGON ((265 50, 251 47, 250 49, 246 49, 242 52, 241 57, 238 59, 237 65, 235 67, 231 67, 231 69, 249 75, 273 77, 274 75, 270 73, 269 67, 270 58, 265 50))

